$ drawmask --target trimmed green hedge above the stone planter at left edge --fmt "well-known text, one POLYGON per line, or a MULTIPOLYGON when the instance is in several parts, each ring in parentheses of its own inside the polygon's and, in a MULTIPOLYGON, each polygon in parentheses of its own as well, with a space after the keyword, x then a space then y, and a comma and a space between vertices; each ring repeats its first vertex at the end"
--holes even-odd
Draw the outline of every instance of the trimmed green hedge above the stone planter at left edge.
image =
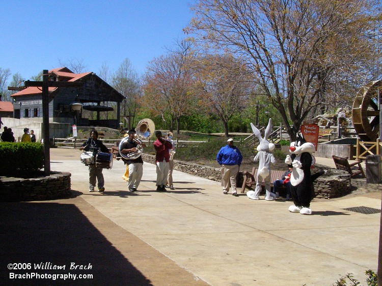
POLYGON ((25 177, 44 167, 40 143, 0 143, 0 176, 25 177))

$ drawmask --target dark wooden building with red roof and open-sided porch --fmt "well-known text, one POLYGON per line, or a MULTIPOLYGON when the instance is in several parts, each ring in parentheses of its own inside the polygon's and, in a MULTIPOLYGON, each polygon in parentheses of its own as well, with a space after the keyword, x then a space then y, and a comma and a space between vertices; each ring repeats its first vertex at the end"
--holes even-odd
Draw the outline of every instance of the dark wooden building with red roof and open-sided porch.
MULTIPOLYGON (((75 74, 68 68, 58 68, 49 71, 49 81, 82 83, 80 87, 49 87, 49 122, 119 128, 120 103, 124 97, 95 73, 75 74), (116 119, 100 120, 100 112, 113 111, 112 107, 105 105, 106 102, 117 103, 116 119), (81 109, 97 112, 97 119, 83 118, 81 109)), ((11 97, 14 102, 14 118, 42 122, 40 87, 27 87, 11 97)))

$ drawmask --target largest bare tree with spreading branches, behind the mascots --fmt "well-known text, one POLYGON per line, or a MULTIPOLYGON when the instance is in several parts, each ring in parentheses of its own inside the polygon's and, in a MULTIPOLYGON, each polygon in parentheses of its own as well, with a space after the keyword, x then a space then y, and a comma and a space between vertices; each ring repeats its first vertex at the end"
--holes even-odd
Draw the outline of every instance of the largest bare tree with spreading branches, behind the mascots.
POLYGON ((247 62, 293 140, 312 108, 327 104, 332 75, 354 75, 375 55, 368 31, 380 22, 378 4, 378 0, 199 0, 193 7, 196 17, 186 30, 247 62))

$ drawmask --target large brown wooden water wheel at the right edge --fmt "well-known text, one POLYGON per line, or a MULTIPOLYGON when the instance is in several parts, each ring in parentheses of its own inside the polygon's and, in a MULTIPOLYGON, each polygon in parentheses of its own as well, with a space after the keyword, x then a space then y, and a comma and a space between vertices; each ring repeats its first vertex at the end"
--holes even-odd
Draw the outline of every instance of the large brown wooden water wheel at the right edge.
POLYGON ((354 99, 352 120, 362 141, 373 142, 379 133, 378 89, 382 94, 382 80, 363 86, 354 99))

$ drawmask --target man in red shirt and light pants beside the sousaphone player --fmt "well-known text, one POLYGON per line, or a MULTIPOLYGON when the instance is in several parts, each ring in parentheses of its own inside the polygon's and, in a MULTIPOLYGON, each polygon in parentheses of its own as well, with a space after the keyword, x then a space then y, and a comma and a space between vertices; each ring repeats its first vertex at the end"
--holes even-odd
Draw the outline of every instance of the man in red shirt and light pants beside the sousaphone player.
POLYGON ((162 138, 162 133, 159 130, 155 131, 155 136, 157 138, 154 142, 154 148, 156 150, 156 190, 157 192, 166 192, 165 184, 170 161, 169 150, 172 148, 172 144, 162 138))

